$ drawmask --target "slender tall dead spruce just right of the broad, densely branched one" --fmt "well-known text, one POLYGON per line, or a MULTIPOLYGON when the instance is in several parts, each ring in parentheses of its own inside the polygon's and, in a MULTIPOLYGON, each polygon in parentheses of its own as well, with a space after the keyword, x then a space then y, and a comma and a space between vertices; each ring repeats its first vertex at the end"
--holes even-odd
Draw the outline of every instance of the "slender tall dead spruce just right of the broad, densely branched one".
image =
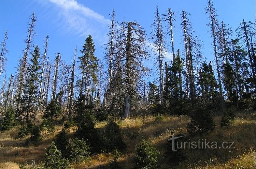
POLYGON ((159 71, 159 83, 160 83, 160 104, 163 104, 164 82, 163 82, 163 57, 165 54, 165 35, 162 29, 162 19, 158 13, 158 6, 156 6, 156 12, 154 16, 154 22, 152 24, 152 39, 154 40, 154 52, 157 56, 156 63, 158 64, 159 71))

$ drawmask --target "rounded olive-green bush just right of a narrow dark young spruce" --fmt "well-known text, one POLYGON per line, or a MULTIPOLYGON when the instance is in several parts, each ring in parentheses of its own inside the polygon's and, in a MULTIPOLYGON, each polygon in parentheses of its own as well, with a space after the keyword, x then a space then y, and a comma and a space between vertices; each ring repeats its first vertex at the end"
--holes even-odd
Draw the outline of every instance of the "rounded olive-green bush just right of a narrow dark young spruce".
POLYGON ((86 144, 86 141, 78 138, 70 138, 67 144, 67 157, 76 163, 81 163, 85 159, 89 158, 90 147, 86 144))

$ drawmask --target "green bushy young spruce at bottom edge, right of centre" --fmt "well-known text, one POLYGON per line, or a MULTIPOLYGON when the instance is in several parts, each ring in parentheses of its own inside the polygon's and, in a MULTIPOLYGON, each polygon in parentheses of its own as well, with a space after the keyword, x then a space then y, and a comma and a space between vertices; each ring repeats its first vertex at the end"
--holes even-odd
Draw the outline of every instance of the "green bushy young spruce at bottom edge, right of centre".
POLYGON ((143 139, 136 148, 134 159, 135 169, 154 169, 158 164, 158 151, 150 140, 143 139))

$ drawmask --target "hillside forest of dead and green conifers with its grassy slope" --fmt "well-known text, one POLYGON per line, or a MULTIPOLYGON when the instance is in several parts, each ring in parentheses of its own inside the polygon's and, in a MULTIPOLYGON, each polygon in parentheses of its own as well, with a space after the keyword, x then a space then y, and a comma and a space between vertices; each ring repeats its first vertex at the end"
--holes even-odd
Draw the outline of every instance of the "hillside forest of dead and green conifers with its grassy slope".
POLYGON ((19 56, 0 32, 0 168, 255 168, 255 20, 230 27, 204 1, 209 48, 189 10, 160 2, 150 30, 109 11, 104 45, 87 34, 71 56, 47 32, 34 43, 37 11, 19 56))

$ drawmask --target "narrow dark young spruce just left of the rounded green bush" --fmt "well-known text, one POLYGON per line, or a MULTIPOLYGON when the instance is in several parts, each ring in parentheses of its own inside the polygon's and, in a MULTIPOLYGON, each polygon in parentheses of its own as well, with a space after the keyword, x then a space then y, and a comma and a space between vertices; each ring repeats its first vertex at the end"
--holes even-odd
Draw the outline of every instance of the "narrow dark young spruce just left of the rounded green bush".
POLYGON ((61 151, 62 155, 66 155, 66 146, 68 144, 68 132, 65 129, 62 129, 57 135, 55 139, 55 144, 58 150, 61 151))

